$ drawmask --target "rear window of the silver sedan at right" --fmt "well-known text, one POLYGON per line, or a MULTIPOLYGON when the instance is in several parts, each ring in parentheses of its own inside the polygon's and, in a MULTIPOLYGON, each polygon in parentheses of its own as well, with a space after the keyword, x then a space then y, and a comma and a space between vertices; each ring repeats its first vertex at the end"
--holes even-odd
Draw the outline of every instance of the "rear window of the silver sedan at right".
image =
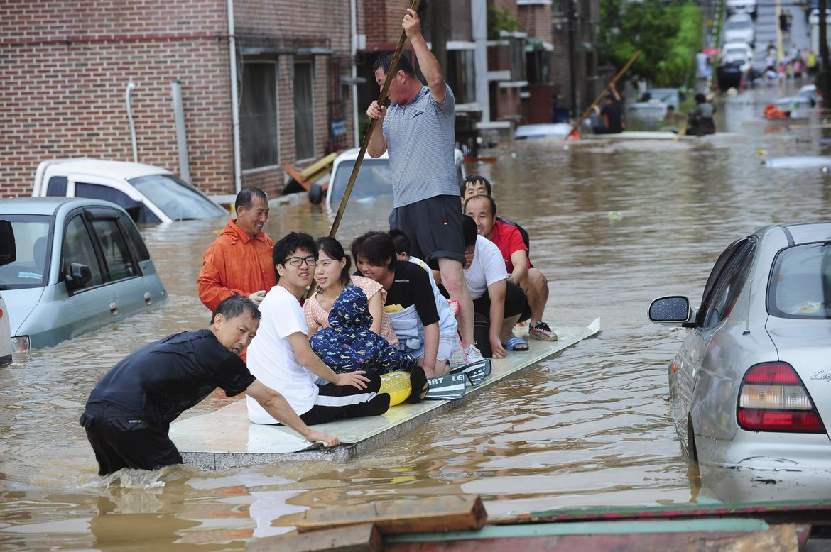
POLYGON ((768 311, 781 318, 831 318, 831 242, 779 252, 770 277, 768 311))

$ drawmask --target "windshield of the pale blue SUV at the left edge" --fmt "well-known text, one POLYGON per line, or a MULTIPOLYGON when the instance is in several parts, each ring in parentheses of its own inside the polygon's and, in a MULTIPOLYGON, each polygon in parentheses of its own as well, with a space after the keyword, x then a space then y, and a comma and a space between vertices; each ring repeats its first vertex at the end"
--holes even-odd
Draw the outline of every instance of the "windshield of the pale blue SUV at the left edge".
POLYGON ((15 260, 0 266, 0 290, 47 285, 53 218, 41 215, 0 215, 11 222, 15 260))

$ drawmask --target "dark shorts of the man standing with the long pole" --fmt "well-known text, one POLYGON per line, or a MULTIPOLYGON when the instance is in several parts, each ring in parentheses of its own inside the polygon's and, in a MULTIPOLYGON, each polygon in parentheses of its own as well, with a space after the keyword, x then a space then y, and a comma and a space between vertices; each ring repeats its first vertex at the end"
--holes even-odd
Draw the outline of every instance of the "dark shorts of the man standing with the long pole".
POLYGON ((403 231, 410 238, 411 255, 434 270, 439 268, 439 259, 465 264, 459 196, 435 196, 394 208, 390 228, 403 231))

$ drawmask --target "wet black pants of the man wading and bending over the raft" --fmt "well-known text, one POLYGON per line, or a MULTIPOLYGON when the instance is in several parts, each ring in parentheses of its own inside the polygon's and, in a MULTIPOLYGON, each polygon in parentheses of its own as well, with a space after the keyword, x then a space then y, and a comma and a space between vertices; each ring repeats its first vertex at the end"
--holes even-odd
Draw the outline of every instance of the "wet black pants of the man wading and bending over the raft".
POLYGON ((96 453, 100 476, 125 467, 158 470, 183 463, 167 435, 170 424, 135 419, 107 405, 90 405, 81 414, 81 427, 96 453))

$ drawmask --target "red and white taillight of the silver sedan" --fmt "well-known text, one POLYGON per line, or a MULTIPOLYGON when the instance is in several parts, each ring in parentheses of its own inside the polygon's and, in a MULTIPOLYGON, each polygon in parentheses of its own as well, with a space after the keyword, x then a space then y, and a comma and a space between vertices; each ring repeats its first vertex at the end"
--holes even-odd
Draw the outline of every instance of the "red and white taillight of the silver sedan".
POLYGON ((739 389, 738 418, 750 431, 825 432, 799 374, 784 362, 750 367, 739 389))

